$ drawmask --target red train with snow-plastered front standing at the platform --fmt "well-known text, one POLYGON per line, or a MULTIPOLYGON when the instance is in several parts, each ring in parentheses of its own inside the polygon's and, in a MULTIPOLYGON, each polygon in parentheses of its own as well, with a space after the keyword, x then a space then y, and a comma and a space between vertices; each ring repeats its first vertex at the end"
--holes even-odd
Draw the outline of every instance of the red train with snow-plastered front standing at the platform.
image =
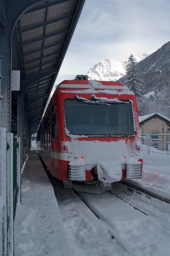
POLYGON ((49 172, 67 182, 106 185, 141 178, 134 93, 120 82, 79 79, 58 85, 38 130, 37 150, 49 172))

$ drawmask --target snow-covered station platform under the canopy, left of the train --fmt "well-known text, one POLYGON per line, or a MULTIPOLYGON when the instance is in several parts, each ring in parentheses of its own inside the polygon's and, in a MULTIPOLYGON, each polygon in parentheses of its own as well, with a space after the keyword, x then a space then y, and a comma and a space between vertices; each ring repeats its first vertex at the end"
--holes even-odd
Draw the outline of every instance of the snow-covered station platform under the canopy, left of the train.
POLYGON ((36 148, 32 147, 22 175, 22 204, 17 204, 16 256, 70 256, 70 243, 56 197, 36 148))

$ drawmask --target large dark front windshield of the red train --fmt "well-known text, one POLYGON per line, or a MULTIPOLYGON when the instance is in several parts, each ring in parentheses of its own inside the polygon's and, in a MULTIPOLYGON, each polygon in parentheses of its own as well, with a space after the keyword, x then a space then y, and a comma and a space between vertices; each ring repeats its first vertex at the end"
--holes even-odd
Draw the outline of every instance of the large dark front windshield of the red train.
POLYGON ((131 102, 112 104, 64 100, 69 134, 86 136, 134 136, 131 102))

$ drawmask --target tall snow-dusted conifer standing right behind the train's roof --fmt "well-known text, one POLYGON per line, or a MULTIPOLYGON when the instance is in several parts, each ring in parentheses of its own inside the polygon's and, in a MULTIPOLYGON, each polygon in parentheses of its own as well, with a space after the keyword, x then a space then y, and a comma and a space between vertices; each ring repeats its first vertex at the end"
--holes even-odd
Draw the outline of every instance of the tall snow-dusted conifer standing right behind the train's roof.
POLYGON ((124 84, 134 92, 137 98, 141 98, 145 89, 141 84, 143 80, 140 78, 138 63, 132 54, 129 56, 127 63, 124 84))

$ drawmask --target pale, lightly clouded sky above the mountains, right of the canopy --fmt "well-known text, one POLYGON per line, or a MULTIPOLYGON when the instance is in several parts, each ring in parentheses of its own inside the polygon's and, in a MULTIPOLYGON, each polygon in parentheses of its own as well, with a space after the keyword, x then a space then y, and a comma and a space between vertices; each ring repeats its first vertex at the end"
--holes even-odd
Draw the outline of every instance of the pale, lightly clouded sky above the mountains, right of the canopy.
POLYGON ((170 41, 169 0, 86 0, 56 84, 98 62, 151 54, 170 41))

